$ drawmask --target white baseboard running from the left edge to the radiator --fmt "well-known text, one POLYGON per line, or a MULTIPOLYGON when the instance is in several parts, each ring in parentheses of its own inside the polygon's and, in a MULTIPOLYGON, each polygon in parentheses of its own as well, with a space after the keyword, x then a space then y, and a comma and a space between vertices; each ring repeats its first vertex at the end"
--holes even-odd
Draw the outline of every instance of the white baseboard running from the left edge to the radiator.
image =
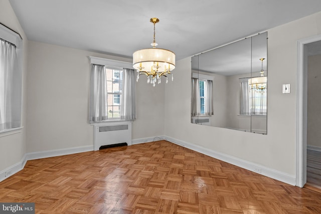
POLYGON ((25 167, 26 162, 28 160, 34 160, 34 159, 40 159, 40 158, 46 158, 46 157, 55 157, 55 156, 61 156, 66 154, 75 154, 75 153, 93 151, 93 150, 94 150, 93 146, 80 146, 80 147, 73 147, 73 148, 26 153, 18 163, 0 171, 0 182, 10 177, 11 175, 19 172, 20 170, 22 170, 25 167))

